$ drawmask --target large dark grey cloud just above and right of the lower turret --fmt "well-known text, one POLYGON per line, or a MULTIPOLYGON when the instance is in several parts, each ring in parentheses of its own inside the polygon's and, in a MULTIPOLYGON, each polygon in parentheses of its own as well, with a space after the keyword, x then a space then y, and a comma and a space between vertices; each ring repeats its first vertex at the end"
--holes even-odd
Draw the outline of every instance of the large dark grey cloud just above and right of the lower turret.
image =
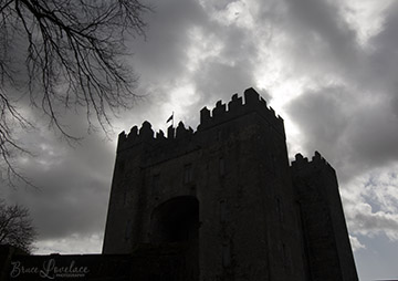
POLYGON ((305 136, 306 152, 323 152, 348 180, 398 160, 398 119, 387 101, 375 98, 363 102, 348 89, 325 87, 302 94, 286 110, 305 136))

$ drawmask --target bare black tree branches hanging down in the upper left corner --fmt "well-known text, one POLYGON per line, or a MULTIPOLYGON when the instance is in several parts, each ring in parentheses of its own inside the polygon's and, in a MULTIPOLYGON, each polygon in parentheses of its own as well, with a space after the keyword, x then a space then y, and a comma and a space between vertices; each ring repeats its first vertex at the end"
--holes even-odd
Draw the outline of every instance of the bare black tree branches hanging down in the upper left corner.
POLYGON ((139 0, 0 0, 0 154, 8 175, 19 176, 11 154, 28 153, 13 128, 34 126, 22 103, 67 140, 78 137, 63 124, 65 111, 83 111, 88 129, 107 133, 109 117, 133 106, 137 77, 122 56, 127 37, 145 35, 147 11, 139 0))

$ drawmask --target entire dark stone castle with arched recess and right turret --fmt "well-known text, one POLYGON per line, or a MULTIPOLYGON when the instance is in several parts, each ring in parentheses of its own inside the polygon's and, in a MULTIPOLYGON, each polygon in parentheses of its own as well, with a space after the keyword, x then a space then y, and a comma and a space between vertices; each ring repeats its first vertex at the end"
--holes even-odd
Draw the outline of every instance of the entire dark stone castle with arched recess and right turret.
POLYGON ((119 135, 103 253, 161 257, 145 280, 358 280, 335 170, 318 153, 290 165, 253 89, 196 132, 119 135))

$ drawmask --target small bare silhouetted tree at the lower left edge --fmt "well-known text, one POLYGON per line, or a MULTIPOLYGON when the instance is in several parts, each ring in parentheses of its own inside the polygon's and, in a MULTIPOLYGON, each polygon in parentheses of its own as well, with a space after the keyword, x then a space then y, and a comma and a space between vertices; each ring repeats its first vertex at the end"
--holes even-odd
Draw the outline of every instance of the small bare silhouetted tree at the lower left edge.
POLYGON ((0 201, 0 244, 11 244, 30 252, 35 236, 27 208, 0 201))

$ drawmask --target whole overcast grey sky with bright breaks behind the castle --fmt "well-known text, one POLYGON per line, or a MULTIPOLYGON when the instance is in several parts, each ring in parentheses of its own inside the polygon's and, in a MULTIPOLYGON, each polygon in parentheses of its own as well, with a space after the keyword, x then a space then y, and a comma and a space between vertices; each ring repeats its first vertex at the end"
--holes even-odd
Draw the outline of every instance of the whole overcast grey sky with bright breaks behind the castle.
MULTIPOLYGON (((146 97, 71 148, 43 126, 23 135, 36 157, 19 163, 39 185, 1 188, 27 206, 38 253, 100 252, 116 138, 175 112, 253 86, 285 119, 290 157, 318 150, 337 170, 360 280, 397 279, 398 2, 392 0, 153 0, 146 40, 128 46, 146 97)), ((84 119, 84 116, 82 116, 84 119)))

